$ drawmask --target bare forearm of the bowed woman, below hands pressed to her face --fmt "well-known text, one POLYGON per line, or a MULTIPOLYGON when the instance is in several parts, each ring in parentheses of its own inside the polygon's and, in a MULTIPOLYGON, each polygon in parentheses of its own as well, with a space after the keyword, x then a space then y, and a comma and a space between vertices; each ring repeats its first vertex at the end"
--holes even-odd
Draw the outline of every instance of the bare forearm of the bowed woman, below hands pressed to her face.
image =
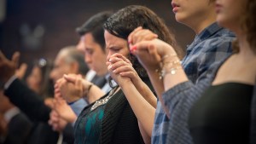
POLYGON ((120 85, 120 87, 123 90, 126 99, 129 101, 133 112, 137 116, 138 121, 141 122, 143 129, 146 131, 147 135, 151 136, 155 108, 143 98, 143 95, 137 91, 132 83, 126 83, 124 86, 120 85))

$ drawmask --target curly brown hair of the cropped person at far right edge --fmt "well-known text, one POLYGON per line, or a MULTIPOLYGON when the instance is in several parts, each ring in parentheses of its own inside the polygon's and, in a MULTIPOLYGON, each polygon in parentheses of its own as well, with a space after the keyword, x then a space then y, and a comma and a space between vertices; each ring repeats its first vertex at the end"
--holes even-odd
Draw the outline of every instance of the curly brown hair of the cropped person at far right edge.
MULTIPOLYGON (((254 54, 256 54, 256 1, 246 0, 243 3, 247 3, 243 9, 243 17, 241 18, 241 29, 246 32, 247 42, 250 44, 254 54)), ((239 46, 237 40, 233 43, 234 53, 239 52, 239 46)))

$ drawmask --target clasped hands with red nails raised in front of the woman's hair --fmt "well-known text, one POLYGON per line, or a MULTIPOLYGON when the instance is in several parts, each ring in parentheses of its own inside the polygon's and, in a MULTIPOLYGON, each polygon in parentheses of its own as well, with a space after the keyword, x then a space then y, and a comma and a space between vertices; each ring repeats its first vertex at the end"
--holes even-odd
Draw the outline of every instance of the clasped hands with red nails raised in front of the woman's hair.
POLYGON ((128 37, 131 53, 147 71, 160 68, 160 61, 166 55, 176 54, 171 45, 157 38, 153 32, 138 27, 128 37))

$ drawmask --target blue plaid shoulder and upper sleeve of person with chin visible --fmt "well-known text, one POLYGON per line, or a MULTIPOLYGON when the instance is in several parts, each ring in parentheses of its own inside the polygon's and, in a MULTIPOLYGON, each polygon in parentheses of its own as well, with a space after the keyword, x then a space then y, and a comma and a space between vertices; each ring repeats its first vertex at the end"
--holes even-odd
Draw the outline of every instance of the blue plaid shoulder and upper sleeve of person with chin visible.
POLYGON ((207 70, 215 62, 231 55, 234 37, 213 37, 198 44, 183 61, 184 71, 194 84, 206 78, 207 70), (206 49, 207 48, 207 49, 206 49))

